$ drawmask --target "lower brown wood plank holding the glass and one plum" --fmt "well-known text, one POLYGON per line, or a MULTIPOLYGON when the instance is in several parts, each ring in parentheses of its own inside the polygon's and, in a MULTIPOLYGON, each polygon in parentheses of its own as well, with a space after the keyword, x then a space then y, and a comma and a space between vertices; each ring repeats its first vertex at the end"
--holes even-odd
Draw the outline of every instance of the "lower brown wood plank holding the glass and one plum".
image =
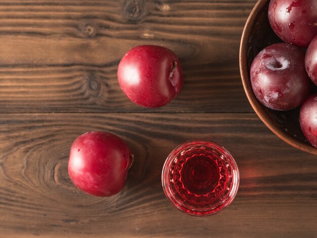
POLYGON ((0 140, 5 237, 317 235, 315 156, 281 141, 254 113, 7 113, 0 140), (126 187, 112 197, 87 195, 67 175, 72 141, 91 130, 121 136, 136 156, 126 187), (216 216, 182 214, 162 190, 165 158, 194 138, 222 144, 240 168, 240 190, 216 216))

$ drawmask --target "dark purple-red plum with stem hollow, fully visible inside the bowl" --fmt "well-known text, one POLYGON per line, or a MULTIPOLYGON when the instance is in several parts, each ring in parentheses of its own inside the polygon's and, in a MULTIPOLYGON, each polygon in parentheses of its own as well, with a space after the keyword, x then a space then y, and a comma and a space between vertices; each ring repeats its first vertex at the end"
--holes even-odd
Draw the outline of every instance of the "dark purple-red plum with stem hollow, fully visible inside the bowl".
POLYGON ((304 102, 312 90, 304 57, 300 48, 279 43, 266 47, 254 58, 251 85, 263 105, 274 110, 290 110, 304 102))

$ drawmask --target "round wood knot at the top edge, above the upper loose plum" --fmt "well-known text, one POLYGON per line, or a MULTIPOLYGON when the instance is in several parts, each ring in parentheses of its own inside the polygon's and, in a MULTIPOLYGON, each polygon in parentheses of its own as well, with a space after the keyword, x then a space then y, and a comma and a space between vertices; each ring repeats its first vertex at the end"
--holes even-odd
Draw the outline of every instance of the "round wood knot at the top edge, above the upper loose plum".
POLYGON ((130 21, 139 21, 145 14, 145 0, 127 0, 124 13, 130 21))

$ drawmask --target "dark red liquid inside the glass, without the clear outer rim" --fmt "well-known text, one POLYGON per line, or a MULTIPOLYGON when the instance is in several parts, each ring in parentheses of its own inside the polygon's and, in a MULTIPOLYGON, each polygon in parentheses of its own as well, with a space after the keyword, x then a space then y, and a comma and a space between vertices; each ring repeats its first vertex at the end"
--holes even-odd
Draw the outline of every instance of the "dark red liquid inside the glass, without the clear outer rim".
POLYGON ((180 158, 174 181, 183 199, 191 203, 210 203, 224 191, 227 169, 217 157, 192 151, 180 158))

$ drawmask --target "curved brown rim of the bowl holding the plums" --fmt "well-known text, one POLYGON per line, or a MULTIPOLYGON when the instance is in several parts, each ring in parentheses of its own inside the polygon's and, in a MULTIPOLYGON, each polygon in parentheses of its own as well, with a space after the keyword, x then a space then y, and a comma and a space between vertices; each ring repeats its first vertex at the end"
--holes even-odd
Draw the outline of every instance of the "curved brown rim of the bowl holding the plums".
POLYGON ((241 74, 241 80, 243 84, 243 88, 245 90, 245 93, 247 95, 247 98, 255 111, 255 113, 258 115, 260 120, 265 124, 265 126, 270 129, 276 136, 280 137, 282 140, 284 140, 286 143, 292 145, 295 148, 298 148, 300 150, 306 151, 311 154, 317 155, 317 148, 314 148, 312 145, 308 145, 302 141, 299 141, 292 137, 289 134, 286 134, 283 130, 281 130, 279 127, 277 127, 274 122, 272 121, 272 118, 270 118, 262 106, 260 105, 260 102, 256 99, 256 97, 253 94, 250 78, 249 78, 249 70, 248 70, 248 63, 247 63, 247 51, 248 51, 248 42, 251 34, 251 30, 254 25, 255 18, 257 17, 258 13, 262 10, 262 8, 269 2, 269 0, 259 0, 254 8, 252 9, 247 22, 245 24, 242 37, 241 37, 241 44, 240 44, 240 52, 239 52, 239 63, 240 63, 240 74, 241 74))

